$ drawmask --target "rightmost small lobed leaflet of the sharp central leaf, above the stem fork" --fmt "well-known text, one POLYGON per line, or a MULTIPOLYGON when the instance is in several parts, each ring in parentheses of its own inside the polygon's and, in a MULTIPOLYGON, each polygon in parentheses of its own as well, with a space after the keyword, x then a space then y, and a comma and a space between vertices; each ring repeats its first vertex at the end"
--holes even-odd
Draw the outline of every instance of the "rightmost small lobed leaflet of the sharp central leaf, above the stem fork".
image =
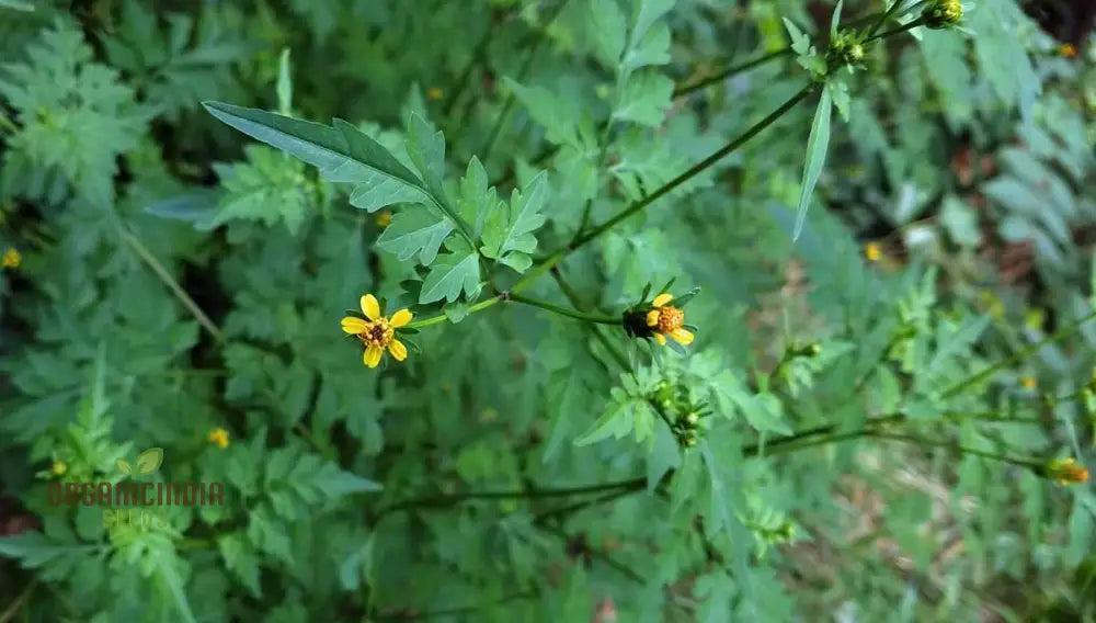
POLYGON ((528 254, 536 250, 537 239, 533 231, 545 224, 540 208, 548 193, 548 177, 541 171, 518 192, 514 189, 510 204, 499 203, 488 216, 483 226, 484 257, 499 260, 517 272, 532 265, 528 254))

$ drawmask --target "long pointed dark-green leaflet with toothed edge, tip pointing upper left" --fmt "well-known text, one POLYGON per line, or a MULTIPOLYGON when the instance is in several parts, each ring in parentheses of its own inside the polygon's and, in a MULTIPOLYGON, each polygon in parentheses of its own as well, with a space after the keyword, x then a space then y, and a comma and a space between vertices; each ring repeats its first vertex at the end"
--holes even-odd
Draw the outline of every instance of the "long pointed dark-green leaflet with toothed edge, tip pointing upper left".
POLYGON ((381 201, 423 201, 430 194, 379 143, 342 120, 329 127, 220 102, 203 105, 225 124, 319 168, 326 180, 354 184, 357 201, 369 209, 380 207, 381 201), (381 190, 368 192, 381 182, 381 190), (358 192, 358 186, 364 189, 358 192))

